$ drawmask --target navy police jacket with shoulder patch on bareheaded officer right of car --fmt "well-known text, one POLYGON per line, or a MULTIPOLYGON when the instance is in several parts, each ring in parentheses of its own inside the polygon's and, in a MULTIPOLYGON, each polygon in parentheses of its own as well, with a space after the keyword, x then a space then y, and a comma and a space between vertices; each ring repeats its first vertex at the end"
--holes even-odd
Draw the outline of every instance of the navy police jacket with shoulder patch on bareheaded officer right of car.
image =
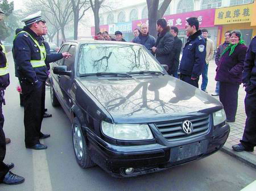
POLYGON ((201 34, 199 30, 188 37, 180 62, 180 73, 192 78, 199 77, 205 65, 205 40, 201 34))

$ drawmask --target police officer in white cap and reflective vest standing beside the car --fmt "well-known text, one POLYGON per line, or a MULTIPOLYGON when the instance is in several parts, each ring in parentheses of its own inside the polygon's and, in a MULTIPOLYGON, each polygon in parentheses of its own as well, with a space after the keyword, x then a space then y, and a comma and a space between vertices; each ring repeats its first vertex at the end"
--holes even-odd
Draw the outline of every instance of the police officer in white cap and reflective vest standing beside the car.
MULTIPOLYGON (((42 41, 44 20, 41 11, 22 20, 23 31, 15 36, 14 60, 24 97, 25 145, 35 150, 46 149, 39 139, 50 137, 41 132, 43 120, 43 86, 48 78, 46 48, 42 41)), ((64 54, 63 57, 69 57, 64 54)))

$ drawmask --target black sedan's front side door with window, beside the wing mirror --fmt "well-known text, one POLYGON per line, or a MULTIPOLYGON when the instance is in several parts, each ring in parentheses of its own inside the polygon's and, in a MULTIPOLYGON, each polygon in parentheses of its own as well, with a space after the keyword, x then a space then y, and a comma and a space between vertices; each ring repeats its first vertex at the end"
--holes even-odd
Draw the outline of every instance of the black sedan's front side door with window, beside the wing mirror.
MULTIPOLYGON (((77 48, 76 45, 71 45, 69 47, 68 53, 71 54, 72 56, 69 59, 65 59, 62 63, 62 65, 67 66, 68 71, 74 71, 76 48, 77 48)), ((69 92, 71 90, 72 83, 73 83, 73 73, 72 73, 72 76, 61 75, 59 83, 60 83, 59 95, 61 96, 61 99, 65 104, 65 109, 69 111, 69 109, 73 105, 72 99, 69 95, 69 92)))

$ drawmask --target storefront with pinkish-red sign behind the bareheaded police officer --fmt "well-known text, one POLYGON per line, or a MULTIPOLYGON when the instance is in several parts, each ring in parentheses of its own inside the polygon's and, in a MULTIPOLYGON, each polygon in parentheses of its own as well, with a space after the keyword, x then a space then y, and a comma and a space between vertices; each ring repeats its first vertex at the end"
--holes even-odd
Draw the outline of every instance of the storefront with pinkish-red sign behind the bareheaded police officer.
MULTIPOLYGON (((182 14, 175 15, 165 15, 164 19, 167 20, 168 26, 176 26, 179 28, 179 38, 183 41, 183 45, 186 42, 187 35, 185 32, 185 23, 186 19, 189 17, 197 17, 199 19, 199 27, 200 29, 206 28, 208 30, 208 37, 212 39, 217 44, 217 34, 218 27, 214 26, 214 15, 215 9, 201 10, 201 11, 193 11, 193 12, 185 12, 182 14)), ((135 28, 139 28, 142 23, 147 23, 147 19, 135 20, 133 21, 133 30, 135 28)))

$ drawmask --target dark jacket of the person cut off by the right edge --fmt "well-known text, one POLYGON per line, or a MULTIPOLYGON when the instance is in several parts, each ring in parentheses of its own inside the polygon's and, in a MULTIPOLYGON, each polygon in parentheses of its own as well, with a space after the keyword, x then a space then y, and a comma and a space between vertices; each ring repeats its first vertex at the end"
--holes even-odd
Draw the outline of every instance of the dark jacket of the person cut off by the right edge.
POLYGON ((248 87, 246 90, 256 89, 256 36, 251 40, 249 48, 247 49, 242 80, 245 86, 248 87))

